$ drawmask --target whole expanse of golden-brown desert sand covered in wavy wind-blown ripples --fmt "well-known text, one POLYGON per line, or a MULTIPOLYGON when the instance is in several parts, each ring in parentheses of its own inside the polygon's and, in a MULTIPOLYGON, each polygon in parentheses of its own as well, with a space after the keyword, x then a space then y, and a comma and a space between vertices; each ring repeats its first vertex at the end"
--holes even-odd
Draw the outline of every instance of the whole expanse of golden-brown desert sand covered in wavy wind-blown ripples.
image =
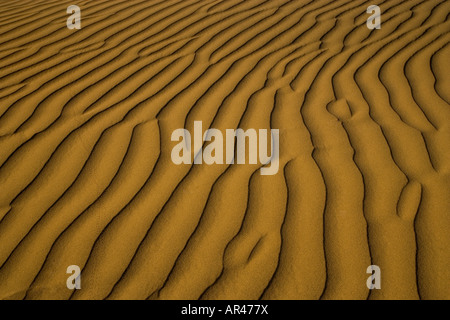
POLYGON ((450 298, 449 1, 72 4, 0 1, 0 298, 450 298), (278 174, 174 165, 194 121, 278 174))

